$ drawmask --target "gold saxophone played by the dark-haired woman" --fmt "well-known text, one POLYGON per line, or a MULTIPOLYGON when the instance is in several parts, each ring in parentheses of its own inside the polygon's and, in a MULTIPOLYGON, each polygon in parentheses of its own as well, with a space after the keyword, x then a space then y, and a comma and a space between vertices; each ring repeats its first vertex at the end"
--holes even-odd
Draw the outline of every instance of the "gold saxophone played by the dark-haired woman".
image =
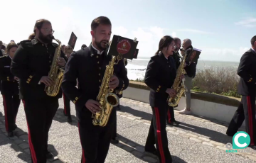
MULTIPOLYGON (((177 53, 177 55, 178 55, 178 53, 177 53)), ((185 86, 184 86, 183 82, 181 81, 181 76, 183 74, 186 74, 185 69, 183 69, 185 61, 186 61, 186 55, 184 55, 184 57, 181 57, 180 55, 178 55, 178 57, 180 57, 182 61, 181 61, 181 64, 178 66, 174 84, 173 84, 173 86, 171 86, 171 88, 176 91, 176 96, 169 96, 167 99, 168 105, 172 106, 172 107, 175 107, 178 105, 178 102, 180 101, 181 96, 185 91, 185 86)))

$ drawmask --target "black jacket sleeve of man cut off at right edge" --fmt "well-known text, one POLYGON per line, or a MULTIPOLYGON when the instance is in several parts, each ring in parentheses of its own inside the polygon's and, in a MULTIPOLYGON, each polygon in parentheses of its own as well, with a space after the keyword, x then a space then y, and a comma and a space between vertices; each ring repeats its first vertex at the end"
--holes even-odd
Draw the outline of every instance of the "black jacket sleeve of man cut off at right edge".
POLYGON ((255 77, 252 77, 252 75, 248 73, 250 64, 252 64, 250 54, 245 53, 244 55, 242 55, 240 64, 238 66, 238 75, 247 82, 255 82, 255 77))

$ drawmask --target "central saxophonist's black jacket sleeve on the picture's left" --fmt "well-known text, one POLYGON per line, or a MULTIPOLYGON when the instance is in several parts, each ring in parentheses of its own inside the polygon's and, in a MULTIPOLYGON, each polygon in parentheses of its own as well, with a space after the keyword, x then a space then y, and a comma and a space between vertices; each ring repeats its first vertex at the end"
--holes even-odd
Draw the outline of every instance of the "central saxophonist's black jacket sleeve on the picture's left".
POLYGON ((82 108, 85 106, 88 98, 85 94, 82 94, 76 87, 78 77, 78 55, 71 55, 68 63, 65 66, 65 73, 62 82, 62 89, 68 99, 73 101, 76 106, 82 108))

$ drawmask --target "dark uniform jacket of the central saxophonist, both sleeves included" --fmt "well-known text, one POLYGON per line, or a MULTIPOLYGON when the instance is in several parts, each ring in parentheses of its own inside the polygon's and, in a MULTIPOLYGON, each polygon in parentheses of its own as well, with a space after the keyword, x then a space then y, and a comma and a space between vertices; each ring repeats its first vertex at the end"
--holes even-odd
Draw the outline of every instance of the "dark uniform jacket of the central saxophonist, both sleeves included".
MULTIPOLYGON (((106 51, 101 55, 97 54, 97 50, 92 45, 85 47, 85 50, 78 50, 70 56, 65 67, 62 87, 64 94, 75 103, 79 119, 85 114, 87 118, 92 116, 92 113, 85 108, 85 103, 89 99, 97 99, 106 66, 111 58, 111 56, 107 55, 106 51), (75 87, 76 79, 78 79, 78 88, 75 87)), ((116 90, 120 91, 127 89, 129 79, 127 78, 122 60, 118 62, 117 67, 114 67, 114 74, 119 79, 119 86, 116 90)))

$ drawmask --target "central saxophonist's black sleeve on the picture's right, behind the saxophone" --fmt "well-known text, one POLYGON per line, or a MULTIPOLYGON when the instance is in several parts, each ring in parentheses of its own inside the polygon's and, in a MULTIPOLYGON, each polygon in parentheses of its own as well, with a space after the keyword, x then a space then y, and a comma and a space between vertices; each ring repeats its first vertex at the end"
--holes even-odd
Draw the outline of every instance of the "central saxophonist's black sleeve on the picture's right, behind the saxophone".
POLYGON ((129 86, 129 79, 127 77, 127 71, 125 69, 123 60, 119 61, 118 68, 120 69, 120 71, 119 71, 119 74, 116 74, 116 75, 119 80, 119 86, 117 86, 115 90, 123 91, 127 89, 127 87, 129 86))

